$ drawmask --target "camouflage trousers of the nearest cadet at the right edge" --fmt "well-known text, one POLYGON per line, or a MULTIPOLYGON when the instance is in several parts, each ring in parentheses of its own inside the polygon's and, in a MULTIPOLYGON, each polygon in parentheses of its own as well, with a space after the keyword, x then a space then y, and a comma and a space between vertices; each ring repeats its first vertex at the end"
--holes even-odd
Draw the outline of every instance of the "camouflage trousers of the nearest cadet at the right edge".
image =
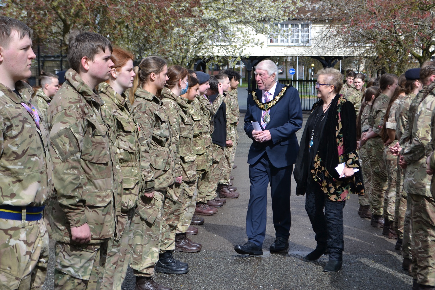
POLYGON ((435 200, 409 194, 412 223, 412 264, 414 279, 435 286, 435 200))

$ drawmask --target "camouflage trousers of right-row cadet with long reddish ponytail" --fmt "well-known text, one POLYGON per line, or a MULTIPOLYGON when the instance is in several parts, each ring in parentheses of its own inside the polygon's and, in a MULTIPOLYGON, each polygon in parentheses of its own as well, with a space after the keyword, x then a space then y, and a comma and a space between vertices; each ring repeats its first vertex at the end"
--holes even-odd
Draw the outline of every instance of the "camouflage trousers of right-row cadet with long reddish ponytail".
POLYGON ((387 190, 384 196, 384 218, 393 223, 396 209, 397 156, 391 153, 388 146, 384 149, 384 162, 388 174, 387 190))

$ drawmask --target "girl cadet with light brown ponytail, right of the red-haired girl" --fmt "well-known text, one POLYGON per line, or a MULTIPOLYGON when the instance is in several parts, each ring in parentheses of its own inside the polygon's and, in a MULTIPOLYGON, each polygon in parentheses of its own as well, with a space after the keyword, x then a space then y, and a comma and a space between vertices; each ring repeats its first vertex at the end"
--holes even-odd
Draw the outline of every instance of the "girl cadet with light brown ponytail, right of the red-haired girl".
MULTIPOLYGON (((144 197, 138 202, 134 217, 134 245, 130 267, 136 276, 137 290, 171 289, 159 286, 153 280, 156 264, 159 272, 188 271, 187 264, 174 260, 171 251, 166 251, 159 257, 163 219, 166 214, 164 208, 167 208, 165 203, 176 203, 179 194, 179 191, 174 190, 175 163, 171 128, 168 116, 161 106, 162 102, 156 96, 168 80, 167 66, 161 57, 146 57, 134 71, 135 84, 130 91, 132 113, 141 131, 141 146, 148 152, 141 156, 141 165, 144 166, 142 170, 147 170, 151 165, 155 191, 154 194, 144 193, 144 197), (166 202, 165 199, 169 201, 166 202)), ((147 173, 144 175, 145 180, 148 180, 147 173)))

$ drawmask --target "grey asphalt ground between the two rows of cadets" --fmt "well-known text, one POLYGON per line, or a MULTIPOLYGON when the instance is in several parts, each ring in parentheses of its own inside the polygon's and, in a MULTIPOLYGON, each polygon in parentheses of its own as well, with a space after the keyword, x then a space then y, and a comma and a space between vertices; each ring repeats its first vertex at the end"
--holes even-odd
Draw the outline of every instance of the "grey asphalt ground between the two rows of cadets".
MULTIPOLYGON (((307 119, 304 115, 304 125, 307 119)), ((402 270, 401 253, 394 249, 396 240, 382 236, 380 228, 370 225, 370 220, 358 216, 358 196, 352 195, 344 208, 345 251, 343 268, 337 273, 324 273, 327 256, 310 262, 305 255, 315 249, 315 235, 305 211, 305 197, 294 194, 296 184, 291 183, 292 225, 289 248, 282 253, 270 253, 274 241, 274 227, 270 188, 268 195, 268 224, 263 252, 260 257, 239 255, 234 245, 247 241, 245 217, 249 200, 247 156, 251 140, 243 131, 243 118, 238 125, 239 143, 232 175, 240 197, 227 199, 213 216, 203 216, 204 225, 197 226, 199 233, 189 236, 202 243, 199 253, 174 253, 178 260, 189 263, 189 273, 169 275, 157 273, 154 279, 174 290, 248 290, 248 289, 411 289, 412 277, 402 270)), ((298 132, 302 135, 303 128, 298 132)), ((50 260, 43 289, 53 289, 54 247, 50 241, 50 260)), ((134 290, 131 269, 122 286, 134 290)))

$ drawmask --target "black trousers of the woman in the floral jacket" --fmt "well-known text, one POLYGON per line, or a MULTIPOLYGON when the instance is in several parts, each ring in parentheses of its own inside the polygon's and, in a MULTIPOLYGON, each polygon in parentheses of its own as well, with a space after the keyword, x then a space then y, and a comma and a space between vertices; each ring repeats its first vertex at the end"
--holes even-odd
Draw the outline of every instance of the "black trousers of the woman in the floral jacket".
POLYGON ((328 248, 329 260, 343 260, 345 249, 343 208, 345 204, 345 201, 328 199, 318 183, 308 180, 305 210, 316 234, 317 245, 328 248))

